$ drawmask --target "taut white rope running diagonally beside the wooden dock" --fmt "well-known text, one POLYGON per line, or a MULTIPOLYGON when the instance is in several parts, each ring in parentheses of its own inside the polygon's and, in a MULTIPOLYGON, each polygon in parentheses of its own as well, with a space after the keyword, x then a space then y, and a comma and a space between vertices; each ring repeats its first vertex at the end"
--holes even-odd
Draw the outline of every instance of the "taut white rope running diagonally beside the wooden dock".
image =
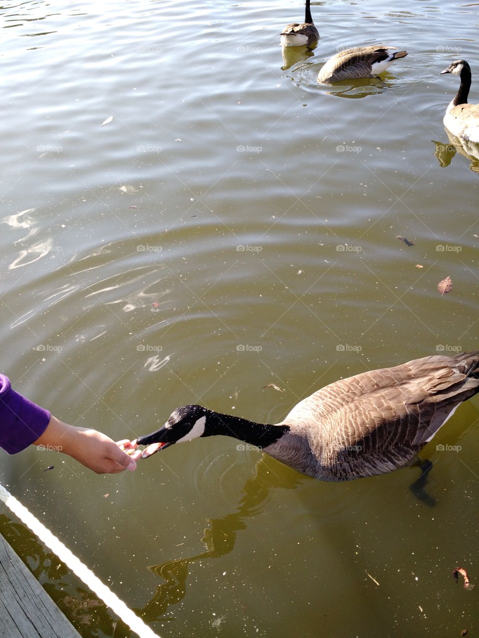
POLYGON ((10 510, 16 514, 20 521, 25 523, 27 527, 33 531, 34 534, 42 540, 47 547, 58 556, 58 558, 68 565, 70 569, 76 574, 82 581, 96 593, 96 595, 103 600, 105 605, 110 607, 118 616, 123 620, 125 625, 128 625, 133 632, 138 634, 140 638, 160 638, 155 632, 153 632, 148 625, 138 618, 131 609, 126 607, 125 603, 118 598, 98 577, 93 574, 86 565, 79 560, 68 547, 58 540, 50 530, 47 530, 43 523, 40 523, 31 512, 27 510, 20 501, 17 501, 15 496, 11 496, 3 485, 0 484, 0 499, 10 510))

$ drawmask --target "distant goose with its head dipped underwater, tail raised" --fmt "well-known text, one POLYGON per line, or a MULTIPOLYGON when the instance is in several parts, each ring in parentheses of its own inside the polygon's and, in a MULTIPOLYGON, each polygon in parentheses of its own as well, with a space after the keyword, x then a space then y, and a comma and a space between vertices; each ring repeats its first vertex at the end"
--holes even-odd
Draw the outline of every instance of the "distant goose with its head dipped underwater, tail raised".
POLYGON ((396 47, 386 47, 382 44, 346 48, 330 57, 317 74, 317 81, 331 84, 340 80, 377 77, 379 73, 386 71, 393 61, 407 56, 407 51, 388 53, 390 49, 397 51, 396 47))

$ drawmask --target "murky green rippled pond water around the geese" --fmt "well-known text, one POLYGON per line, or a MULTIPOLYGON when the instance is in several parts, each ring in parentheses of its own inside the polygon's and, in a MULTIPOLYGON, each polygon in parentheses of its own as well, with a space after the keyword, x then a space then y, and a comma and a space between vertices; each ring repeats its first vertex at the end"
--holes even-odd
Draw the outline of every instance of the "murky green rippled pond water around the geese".
MULTIPOLYGON (((479 101, 478 5, 312 11, 314 56, 282 70, 300 2, 3 4, 0 343, 18 390, 133 438, 187 403, 280 420, 341 376, 476 345, 478 174, 459 153, 441 167, 434 142, 453 59, 479 101), (384 83, 316 85, 337 47, 381 40, 409 51, 384 83)), ((478 408, 425 449, 434 508, 409 492, 417 470, 323 484, 225 438, 121 477, 3 454, 0 479, 161 636, 473 635, 477 590, 452 569, 479 580, 478 408)), ((0 523, 82 635, 112 635, 0 523)))

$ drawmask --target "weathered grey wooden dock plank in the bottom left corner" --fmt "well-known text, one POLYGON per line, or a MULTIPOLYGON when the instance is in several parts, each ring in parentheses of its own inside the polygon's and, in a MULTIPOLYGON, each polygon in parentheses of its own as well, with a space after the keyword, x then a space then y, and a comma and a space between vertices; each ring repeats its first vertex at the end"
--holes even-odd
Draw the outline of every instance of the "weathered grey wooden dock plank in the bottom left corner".
POLYGON ((0 638, 80 638, 0 535, 0 638))

